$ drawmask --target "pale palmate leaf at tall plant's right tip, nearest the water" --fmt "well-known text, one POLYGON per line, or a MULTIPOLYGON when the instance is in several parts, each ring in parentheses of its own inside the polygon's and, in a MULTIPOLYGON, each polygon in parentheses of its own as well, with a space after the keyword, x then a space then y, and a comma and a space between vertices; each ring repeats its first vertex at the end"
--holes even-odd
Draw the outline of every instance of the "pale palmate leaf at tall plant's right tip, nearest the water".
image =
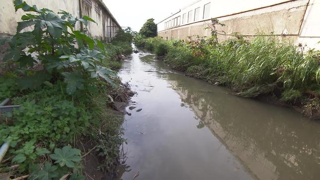
POLYGON ((115 78, 116 74, 112 70, 102 66, 95 66, 94 68, 88 68, 87 71, 91 73, 91 78, 101 77, 111 85, 114 85, 114 81, 110 77, 115 78))

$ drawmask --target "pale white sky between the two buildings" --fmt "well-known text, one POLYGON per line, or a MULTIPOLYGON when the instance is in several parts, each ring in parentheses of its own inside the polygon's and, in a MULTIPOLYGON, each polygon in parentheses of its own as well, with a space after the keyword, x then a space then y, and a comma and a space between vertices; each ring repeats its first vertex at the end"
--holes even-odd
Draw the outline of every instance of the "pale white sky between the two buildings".
POLYGON ((155 23, 195 0, 103 0, 121 26, 129 26, 139 32, 147 19, 155 23))

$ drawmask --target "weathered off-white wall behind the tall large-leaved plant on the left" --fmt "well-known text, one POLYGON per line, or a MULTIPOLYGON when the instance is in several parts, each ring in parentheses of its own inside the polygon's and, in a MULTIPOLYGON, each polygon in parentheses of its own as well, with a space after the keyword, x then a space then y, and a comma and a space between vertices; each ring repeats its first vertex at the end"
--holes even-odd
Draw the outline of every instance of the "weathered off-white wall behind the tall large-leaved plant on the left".
MULTIPOLYGON (((87 15, 97 24, 89 22, 88 35, 100 40, 111 40, 120 27, 102 0, 25 0, 38 8, 49 8, 54 12, 66 10, 74 16, 87 15)), ((12 36, 16 33, 17 22, 24 12, 14 10, 13 0, 0 1, 0 36, 12 36)), ((77 24, 77 29, 80 25, 77 24)))

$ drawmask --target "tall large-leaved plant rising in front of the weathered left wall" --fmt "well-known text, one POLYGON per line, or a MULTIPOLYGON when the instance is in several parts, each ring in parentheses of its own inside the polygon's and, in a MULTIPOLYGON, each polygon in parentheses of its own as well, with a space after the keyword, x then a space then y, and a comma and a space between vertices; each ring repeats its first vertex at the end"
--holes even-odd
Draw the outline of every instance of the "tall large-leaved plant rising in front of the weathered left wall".
POLYGON ((21 0, 15 0, 14 4, 16 10, 22 8, 25 12, 35 12, 21 17, 22 21, 18 22, 17 33, 9 41, 10 49, 4 58, 19 64, 26 72, 17 82, 22 90, 38 90, 44 82, 54 83, 57 78, 65 78, 69 94, 82 90, 83 82, 90 83, 90 79, 101 77, 112 83, 110 78, 114 77, 114 73, 111 70, 103 68, 103 73, 106 73, 103 75, 101 71, 95 72, 102 69, 101 62, 105 57, 93 48, 97 46, 104 51, 103 44, 75 29, 77 22, 86 27, 88 21, 95 22, 93 19, 87 16, 73 17, 66 11, 58 12, 59 16, 47 8, 39 10, 21 0), (26 27, 32 30, 20 32, 26 27), (44 71, 30 72, 29 69, 37 63, 36 59, 45 68, 44 71), (70 76, 66 76, 68 73, 70 76), (92 76, 95 74, 99 76, 92 76), (74 75, 72 81, 71 75, 74 75))

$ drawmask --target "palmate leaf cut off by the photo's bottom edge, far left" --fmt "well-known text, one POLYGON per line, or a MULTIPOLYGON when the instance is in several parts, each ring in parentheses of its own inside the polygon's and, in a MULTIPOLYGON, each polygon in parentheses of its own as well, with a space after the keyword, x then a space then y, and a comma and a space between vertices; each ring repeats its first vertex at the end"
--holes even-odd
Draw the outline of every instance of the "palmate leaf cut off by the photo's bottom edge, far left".
POLYGON ((52 180, 53 178, 57 178, 59 176, 59 173, 56 171, 57 169, 57 166, 52 166, 49 162, 46 162, 42 169, 33 171, 29 179, 52 180))

